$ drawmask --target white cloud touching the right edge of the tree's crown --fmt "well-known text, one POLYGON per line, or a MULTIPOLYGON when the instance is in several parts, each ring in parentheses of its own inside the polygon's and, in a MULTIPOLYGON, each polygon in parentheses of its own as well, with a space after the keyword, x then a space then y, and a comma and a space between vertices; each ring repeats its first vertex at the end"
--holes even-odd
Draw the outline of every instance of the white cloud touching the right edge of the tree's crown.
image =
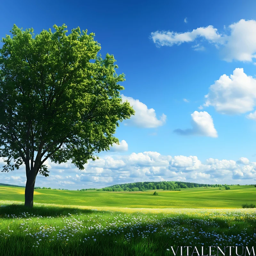
POLYGON ((125 124, 142 128, 155 128, 165 124, 166 116, 164 114, 157 119, 155 109, 148 108, 140 100, 134 100, 132 97, 126 97, 124 95, 122 95, 122 99, 124 101, 128 100, 135 110, 135 115, 127 120, 125 124))

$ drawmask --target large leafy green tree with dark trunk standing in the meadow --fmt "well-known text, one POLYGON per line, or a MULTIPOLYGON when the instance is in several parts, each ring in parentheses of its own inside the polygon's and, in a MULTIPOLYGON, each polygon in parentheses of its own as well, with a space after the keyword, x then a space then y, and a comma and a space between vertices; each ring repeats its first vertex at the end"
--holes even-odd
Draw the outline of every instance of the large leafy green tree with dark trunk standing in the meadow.
POLYGON ((49 176, 46 160, 79 169, 95 153, 119 143, 119 122, 134 110, 122 101, 113 55, 97 57, 100 44, 87 30, 65 24, 43 30, 16 25, 0 48, 0 157, 3 172, 26 167, 25 205, 33 206, 36 175, 49 176))

